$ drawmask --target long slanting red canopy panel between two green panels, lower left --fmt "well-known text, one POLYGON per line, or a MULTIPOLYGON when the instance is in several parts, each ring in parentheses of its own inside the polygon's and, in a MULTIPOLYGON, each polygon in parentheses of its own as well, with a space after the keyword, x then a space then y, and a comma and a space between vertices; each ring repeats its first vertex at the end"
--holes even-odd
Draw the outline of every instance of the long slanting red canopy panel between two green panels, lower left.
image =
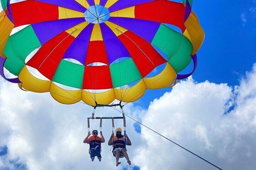
POLYGON ((52 80, 62 56, 74 40, 75 38, 69 33, 60 33, 46 42, 27 62, 27 65, 36 68, 45 77, 52 80))

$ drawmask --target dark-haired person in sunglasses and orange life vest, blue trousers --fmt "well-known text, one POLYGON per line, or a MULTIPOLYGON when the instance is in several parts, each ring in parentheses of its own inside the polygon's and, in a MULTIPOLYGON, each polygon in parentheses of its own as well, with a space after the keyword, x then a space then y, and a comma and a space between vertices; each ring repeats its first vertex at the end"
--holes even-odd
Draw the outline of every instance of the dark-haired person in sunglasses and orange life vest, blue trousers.
POLYGON ((101 143, 104 143, 105 139, 104 139, 104 136, 102 134, 102 131, 100 133, 101 133, 101 138, 98 137, 98 131, 93 130, 92 131, 92 136, 89 138, 89 136, 91 135, 91 132, 88 131, 88 135, 84 140, 84 143, 90 144, 91 161, 94 161, 94 156, 96 154, 99 161, 101 162, 101 143))

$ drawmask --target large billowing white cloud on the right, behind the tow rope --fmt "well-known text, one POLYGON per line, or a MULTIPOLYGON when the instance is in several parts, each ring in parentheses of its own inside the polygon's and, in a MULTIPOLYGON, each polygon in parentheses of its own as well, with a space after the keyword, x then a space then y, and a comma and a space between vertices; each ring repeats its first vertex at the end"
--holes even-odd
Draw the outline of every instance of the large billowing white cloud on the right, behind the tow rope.
MULTIPOLYGON (((223 169, 249 170, 256 165, 255 106, 256 64, 235 89, 182 81, 155 99, 142 121, 223 169), (225 115, 230 103, 235 108, 225 115)), ((145 146, 134 158, 142 170, 215 169, 144 127, 142 134, 145 146)))

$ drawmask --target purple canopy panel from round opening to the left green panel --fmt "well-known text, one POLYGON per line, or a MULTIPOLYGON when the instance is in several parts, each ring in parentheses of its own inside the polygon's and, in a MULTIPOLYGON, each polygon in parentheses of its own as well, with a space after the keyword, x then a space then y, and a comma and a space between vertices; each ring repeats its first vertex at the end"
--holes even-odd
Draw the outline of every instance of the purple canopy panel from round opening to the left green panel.
POLYGON ((40 43, 43 45, 59 33, 82 22, 85 22, 85 18, 71 18, 35 23, 32 24, 32 27, 40 43))

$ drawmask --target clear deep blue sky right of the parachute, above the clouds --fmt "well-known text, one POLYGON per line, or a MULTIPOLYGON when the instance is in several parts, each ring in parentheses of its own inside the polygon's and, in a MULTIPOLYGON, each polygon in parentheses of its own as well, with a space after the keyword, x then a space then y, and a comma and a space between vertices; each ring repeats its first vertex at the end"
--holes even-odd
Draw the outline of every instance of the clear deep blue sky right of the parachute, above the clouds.
MULTIPOLYGON (((256 1, 196 1, 192 9, 205 31, 197 53, 197 82, 206 80, 235 86, 256 61, 256 1), (244 18, 243 18, 244 16, 244 18), (245 19, 243 21, 242 19, 245 19)), ((192 66, 187 71, 192 70, 192 66)), ((155 90, 142 97, 138 105, 149 102, 171 89, 155 90)))

